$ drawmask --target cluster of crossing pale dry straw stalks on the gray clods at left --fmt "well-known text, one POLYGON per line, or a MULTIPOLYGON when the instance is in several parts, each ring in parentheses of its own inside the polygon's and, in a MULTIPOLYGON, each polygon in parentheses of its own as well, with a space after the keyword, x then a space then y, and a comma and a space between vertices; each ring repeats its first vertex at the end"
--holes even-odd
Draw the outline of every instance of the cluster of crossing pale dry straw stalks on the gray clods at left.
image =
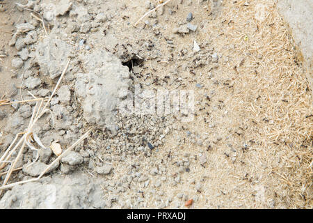
MULTIPOLYGON (((0 170, 3 169, 4 167, 6 167, 6 165, 8 163, 11 163, 9 170, 6 172, 6 178, 3 181, 2 186, 0 187, 0 194, 2 193, 3 189, 6 188, 10 188, 13 187, 15 185, 19 185, 22 183, 27 183, 27 182, 31 182, 31 181, 35 181, 35 180, 39 180, 44 174, 47 173, 47 171, 49 171, 49 169, 56 163, 59 162, 59 160, 66 155, 69 151, 72 150, 72 148, 74 148, 75 146, 77 146, 77 144, 79 144, 83 139, 85 139, 86 137, 88 137, 88 134, 90 132, 90 130, 88 130, 85 134, 83 134, 82 137, 80 137, 74 144, 72 144, 72 146, 70 146, 69 148, 67 148, 61 155, 59 155, 56 160, 54 160, 53 162, 51 162, 51 164, 48 165, 48 167, 45 169, 45 171, 42 171, 42 173, 40 174, 40 176, 38 176, 37 178, 32 178, 31 180, 24 180, 24 181, 19 181, 16 183, 11 183, 8 184, 8 180, 10 179, 10 176, 12 174, 13 171, 16 171, 18 169, 15 169, 15 166, 17 164, 17 161, 19 160, 19 158, 22 156, 22 153, 24 151, 25 146, 29 146, 29 148, 31 148, 32 150, 36 150, 38 151, 37 148, 35 148, 35 146, 33 146, 33 144, 31 144, 31 137, 33 137, 33 139, 35 139, 35 141, 38 143, 38 145, 43 146, 40 142, 40 139, 38 139, 38 137, 36 137, 35 132, 33 132, 33 127, 35 126, 35 124, 37 123, 38 119, 41 118, 45 113, 47 112, 51 112, 49 109, 47 109, 52 97, 54 96, 54 94, 56 93, 56 90, 58 89, 58 86, 61 83, 61 80, 63 79, 63 76, 65 75, 65 72, 68 68, 70 64, 70 60, 67 62, 61 77, 58 79, 58 82, 56 84, 56 87, 54 88, 54 91, 51 93, 49 100, 47 100, 47 102, 44 105, 44 100, 42 98, 37 99, 35 98, 36 105, 35 105, 35 109, 33 110, 33 114, 31 116, 31 121, 29 122, 29 126, 28 128, 25 130, 25 132, 21 132, 18 133, 15 137, 15 139, 13 139, 12 143, 10 144, 10 146, 6 149, 6 152, 2 155, 2 157, 0 158, 0 170), (22 137, 19 139, 20 135, 22 135, 22 137), (17 141, 17 139, 19 139, 19 141, 17 141), (17 141, 17 143, 16 143, 17 141), (15 144, 16 143, 16 144, 15 144), (13 147, 14 146, 14 147, 13 147), (17 156, 15 157, 15 159, 13 160, 13 162, 10 162, 10 157, 13 155, 13 153, 15 151, 19 151, 17 153, 17 156)), ((29 102, 29 101, 33 101, 33 100, 24 100, 21 102, 29 102)), ((0 105, 10 105, 12 102, 4 102, 0 105)), ((37 159, 36 159, 37 160, 37 159)), ((34 161, 35 162, 35 161, 34 161)), ((2 173, 3 174, 3 173, 2 173)))

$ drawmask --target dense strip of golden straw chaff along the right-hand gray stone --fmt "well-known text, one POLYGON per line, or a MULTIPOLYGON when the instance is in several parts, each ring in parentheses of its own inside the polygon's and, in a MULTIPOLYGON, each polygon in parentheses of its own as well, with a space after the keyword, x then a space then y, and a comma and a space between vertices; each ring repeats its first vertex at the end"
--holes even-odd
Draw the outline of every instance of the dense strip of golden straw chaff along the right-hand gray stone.
POLYGON ((312 89, 275 1, 245 3, 225 3, 231 10, 220 18, 228 23, 223 35, 235 47, 227 68, 236 77, 233 109, 247 120, 246 137, 267 157, 268 176, 281 181, 268 193, 280 193, 287 208, 313 208, 312 89), (261 21, 255 19, 259 3, 266 6, 261 21))

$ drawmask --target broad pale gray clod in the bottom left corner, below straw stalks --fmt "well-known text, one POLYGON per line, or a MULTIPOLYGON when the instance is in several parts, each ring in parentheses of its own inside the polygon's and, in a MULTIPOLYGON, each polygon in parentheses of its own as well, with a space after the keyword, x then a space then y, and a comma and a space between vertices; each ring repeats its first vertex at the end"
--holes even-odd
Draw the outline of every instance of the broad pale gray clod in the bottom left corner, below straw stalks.
POLYGON ((105 208, 100 183, 79 173, 17 185, 0 200, 0 208, 105 208))

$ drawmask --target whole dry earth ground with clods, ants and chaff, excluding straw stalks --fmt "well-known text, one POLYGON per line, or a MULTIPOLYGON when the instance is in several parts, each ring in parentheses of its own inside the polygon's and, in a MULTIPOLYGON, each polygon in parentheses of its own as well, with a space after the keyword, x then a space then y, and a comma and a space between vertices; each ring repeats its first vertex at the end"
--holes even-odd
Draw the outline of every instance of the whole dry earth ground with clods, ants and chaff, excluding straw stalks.
MULTIPOLYGON (((295 171, 312 153, 311 92, 275 1, 258 1, 261 20, 255 1, 172 0, 134 27, 158 3, 0 1, 0 100, 48 98, 70 59, 34 129, 45 148, 27 148, 9 183, 92 129, 42 179, 3 190, 0 208, 312 208, 295 171), (136 86, 193 91, 193 120, 121 114, 136 86)), ((0 155, 34 107, 1 105, 0 155)))

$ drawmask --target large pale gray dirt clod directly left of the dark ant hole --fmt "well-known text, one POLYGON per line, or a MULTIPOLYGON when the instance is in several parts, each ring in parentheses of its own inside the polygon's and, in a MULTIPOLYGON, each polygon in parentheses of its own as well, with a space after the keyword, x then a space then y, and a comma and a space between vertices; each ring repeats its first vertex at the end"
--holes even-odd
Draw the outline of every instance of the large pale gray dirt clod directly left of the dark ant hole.
POLYGON ((83 104, 83 117, 99 128, 116 132, 114 110, 127 95, 129 68, 103 51, 83 56, 87 74, 78 74, 75 92, 83 104))

